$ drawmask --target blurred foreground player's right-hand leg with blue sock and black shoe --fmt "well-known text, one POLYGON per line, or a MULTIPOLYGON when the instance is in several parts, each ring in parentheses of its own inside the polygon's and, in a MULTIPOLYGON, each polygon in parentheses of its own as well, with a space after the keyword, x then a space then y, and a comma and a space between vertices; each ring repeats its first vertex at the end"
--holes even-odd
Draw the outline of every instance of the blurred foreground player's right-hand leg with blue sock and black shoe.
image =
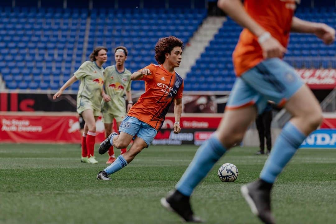
POLYGON ((276 177, 295 154, 303 139, 322 121, 321 107, 306 85, 288 100, 285 108, 293 118, 279 135, 261 171, 260 179, 242 186, 241 189, 252 212, 264 223, 275 223, 270 208, 270 192, 276 177))

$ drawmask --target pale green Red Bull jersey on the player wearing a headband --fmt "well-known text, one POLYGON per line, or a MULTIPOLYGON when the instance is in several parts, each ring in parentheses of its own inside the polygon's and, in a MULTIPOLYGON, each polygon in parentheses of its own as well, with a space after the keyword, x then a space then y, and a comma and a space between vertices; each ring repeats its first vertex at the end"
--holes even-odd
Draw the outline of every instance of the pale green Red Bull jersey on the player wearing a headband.
POLYGON ((131 90, 131 75, 127 69, 119 73, 115 65, 108 66, 104 70, 105 93, 111 97, 111 101, 102 100, 102 112, 114 115, 126 113, 125 91, 131 90))

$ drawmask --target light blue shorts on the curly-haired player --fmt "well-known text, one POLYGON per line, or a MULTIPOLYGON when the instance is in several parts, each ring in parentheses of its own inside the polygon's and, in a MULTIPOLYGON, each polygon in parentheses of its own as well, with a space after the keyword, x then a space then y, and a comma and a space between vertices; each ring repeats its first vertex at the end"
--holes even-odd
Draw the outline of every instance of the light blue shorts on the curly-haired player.
POLYGON ((121 122, 119 132, 121 131, 143 139, 147 147, 152 143, 158 133, 158 131, 149 124, 130 116, 126 116, 121 122))

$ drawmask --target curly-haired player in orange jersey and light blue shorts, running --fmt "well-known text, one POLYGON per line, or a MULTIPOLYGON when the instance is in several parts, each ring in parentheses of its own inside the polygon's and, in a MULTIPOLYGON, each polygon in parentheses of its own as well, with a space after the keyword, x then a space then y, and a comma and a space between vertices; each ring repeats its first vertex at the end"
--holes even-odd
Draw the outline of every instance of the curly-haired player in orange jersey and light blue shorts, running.
POLYGON ((183 42, 173 36, 161 38, 155 45, 155 59, 158 65, 150 64, 131 76, 131 80, 144 80, 145 92, 131 107, 122 121, 118 135, 113 132, 98 149, 107 152, 111 145, 125 148, 134 138, 131 148, 119 155, 109 167, 100 171, 97 179, 110 180, 113 174, 128 165, 143 148, 148 147, 162 127, 169 106, 174 102, 174 133, 180 132, 182 113, 183 79, 175 72, 182 59, 183 42))

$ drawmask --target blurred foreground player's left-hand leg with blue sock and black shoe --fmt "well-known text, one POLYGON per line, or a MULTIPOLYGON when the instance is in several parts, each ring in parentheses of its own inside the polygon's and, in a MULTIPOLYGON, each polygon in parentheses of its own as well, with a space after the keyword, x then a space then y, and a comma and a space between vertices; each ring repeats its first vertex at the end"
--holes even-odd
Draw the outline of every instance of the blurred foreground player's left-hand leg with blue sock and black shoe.
POLYGON ((194 216, 190 195, 225 151, 242 141, 256 114, 254 106, 226 110, 215 135, 200 146, 193 161, 176 184, 176 190, 171 191, 166 198, 162 198, 161 204, 169 211, 177 213, 186 222, 202 222, 194 216))

